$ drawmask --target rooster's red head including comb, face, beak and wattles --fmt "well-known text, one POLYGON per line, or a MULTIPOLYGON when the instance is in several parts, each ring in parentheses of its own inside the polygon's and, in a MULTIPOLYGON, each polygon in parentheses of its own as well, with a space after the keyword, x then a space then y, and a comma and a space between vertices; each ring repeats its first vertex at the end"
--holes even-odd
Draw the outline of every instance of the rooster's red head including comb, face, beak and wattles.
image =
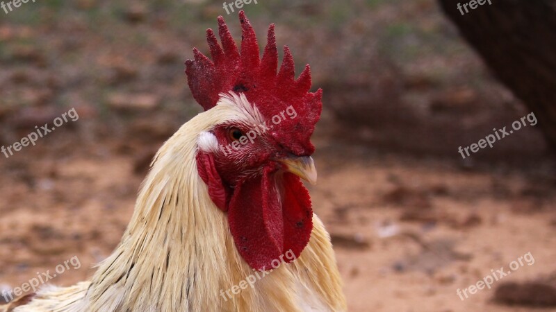
POLYGON ((199 135, 197 169, 211 200, 227 211, 241 257, 256 270, 269 270, 275 261, 299 257, 311 237, 311 198, 300 178, 316 181, 310 138, 320 119, 322 90, 309 92, 309 65, 295 79, 287 46, 278 70, 273 24, 260 58, 243 11, 239 19, 240 49, 218 17, 222 46, 208 29, 212 60, 194 49, 194 60, 186 62, 188 85, 204 110, 230 108, 222 113, 227 118, 199 135), (288 251, 295 257, 285 259, 288 251))

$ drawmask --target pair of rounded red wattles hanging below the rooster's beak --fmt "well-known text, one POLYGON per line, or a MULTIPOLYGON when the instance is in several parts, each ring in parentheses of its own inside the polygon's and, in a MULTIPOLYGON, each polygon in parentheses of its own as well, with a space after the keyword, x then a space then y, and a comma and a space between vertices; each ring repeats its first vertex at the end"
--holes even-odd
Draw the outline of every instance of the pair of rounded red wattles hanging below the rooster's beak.
POLYGON ((281 183, 280 200, 275 175, 265 170, 261 177, 240 182, 230 201, 228 222, 236 248, 256 270, 272 269, 274 260, 274 266, 281 259, 293 261, 311 238, 309 192, 291 173, 284 173, 281 183), (288 250, 295 257, 283 257, 288 250))

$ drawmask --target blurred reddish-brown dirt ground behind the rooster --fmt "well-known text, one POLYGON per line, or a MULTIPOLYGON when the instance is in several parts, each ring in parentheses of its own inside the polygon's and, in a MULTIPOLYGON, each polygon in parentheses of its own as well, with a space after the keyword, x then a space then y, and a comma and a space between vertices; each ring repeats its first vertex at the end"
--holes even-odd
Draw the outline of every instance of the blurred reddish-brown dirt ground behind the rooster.
MULTIPOLYGON (((243 9, 261 46, 275 23, 297 73, 310 63, 324 89, 310 191, 350 311, 556 311, 554 154, 540 125, 528 125, 462 159, 459 146, 532 110, 439 3, 259 0, 243 9), (528 252, 534 263, 493 289, 457 295, 528 252)), ((205 31, 218 15, 240 37, 237 10, 227 15, 222 1, 0 10, 0 145, 79 114, 36 146, 0 154, 0 290, 77 256, 79 270, 50 281, 73 284, 112 252, 154 153, 201 112, 183 61, 194 46, 208 53, 205 31)))

